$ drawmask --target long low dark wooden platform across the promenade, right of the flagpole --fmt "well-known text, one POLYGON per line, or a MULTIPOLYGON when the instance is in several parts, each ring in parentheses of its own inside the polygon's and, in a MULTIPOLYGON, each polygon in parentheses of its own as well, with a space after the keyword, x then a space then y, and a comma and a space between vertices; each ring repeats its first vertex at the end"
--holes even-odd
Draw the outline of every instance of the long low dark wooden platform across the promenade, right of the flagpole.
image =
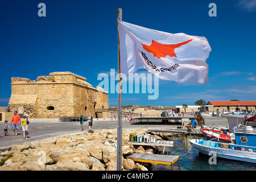
MULTIPOLYGON (((186 118, 195 120, 195 117, 186 118)), ((181 125, 181 119, 185 117, 133 118, 131 125, 181 125)))

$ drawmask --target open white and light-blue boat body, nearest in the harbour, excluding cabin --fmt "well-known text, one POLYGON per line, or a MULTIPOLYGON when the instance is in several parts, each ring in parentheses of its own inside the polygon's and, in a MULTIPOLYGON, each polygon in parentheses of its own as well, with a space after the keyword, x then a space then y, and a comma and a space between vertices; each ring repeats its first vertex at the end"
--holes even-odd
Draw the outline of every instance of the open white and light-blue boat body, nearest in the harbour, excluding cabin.
POLYGON ((256 164, 256 147, 212 142, 203 139, 191 139, 189 142, 202 154, 216 154, 217 158, 240 160, 256 164))

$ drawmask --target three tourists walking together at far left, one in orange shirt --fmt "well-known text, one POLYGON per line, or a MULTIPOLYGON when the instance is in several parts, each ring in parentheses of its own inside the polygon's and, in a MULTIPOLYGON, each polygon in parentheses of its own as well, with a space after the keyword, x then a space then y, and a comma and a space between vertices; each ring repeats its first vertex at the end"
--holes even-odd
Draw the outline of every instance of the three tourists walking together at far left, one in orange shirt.
MULTIPOLYGON (((11 127, 13 129, 13 135, 17 135, 19 126, 23 131, 23 139, 27 138, 28 135, 28 115, 23 114, 23 118, 20 119, 17 111, 14 111, 13 118, 11 119, 11 127)), ((5 120, 5 124, 3 124, 3 131, 5 132, 5 136, 8 136, 8 129, 10 129, 9 123, 5 120)))

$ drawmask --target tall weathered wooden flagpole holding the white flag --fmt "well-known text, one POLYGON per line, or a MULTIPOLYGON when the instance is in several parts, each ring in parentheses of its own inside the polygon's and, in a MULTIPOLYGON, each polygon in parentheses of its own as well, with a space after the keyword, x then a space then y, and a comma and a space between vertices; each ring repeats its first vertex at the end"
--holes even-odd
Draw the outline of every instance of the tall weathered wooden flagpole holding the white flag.
MULTIPOLYGON (((122 20, 122 9, 118 8, 118 20, 122 20)), ((118 113, 117 113, 117 171, 122 171, 122 77, 120 66, 120 44, 118 35, 118 113)))

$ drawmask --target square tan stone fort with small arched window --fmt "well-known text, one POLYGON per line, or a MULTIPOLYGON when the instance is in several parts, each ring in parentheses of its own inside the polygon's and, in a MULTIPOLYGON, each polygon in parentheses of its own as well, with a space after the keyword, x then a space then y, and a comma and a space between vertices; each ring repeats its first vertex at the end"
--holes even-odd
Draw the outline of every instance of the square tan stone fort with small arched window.
POLYGON ((71 72, 53 72, 28 78, 11 78, 9 107, 22 108, 30 118, 101 117, 97 109, 109 109, 108 92, 93 88, 85 77, 71 72))

